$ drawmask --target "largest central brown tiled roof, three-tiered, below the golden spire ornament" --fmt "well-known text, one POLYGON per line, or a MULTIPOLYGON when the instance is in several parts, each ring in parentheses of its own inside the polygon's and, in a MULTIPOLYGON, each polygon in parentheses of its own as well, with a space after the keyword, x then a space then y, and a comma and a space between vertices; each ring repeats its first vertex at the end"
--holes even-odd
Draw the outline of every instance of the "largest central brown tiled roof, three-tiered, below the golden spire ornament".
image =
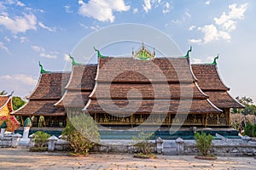
POLYGON ((222 112, 195 81, 185 58, 99 58, 96 86, 84 110, 124 114, 222 112))

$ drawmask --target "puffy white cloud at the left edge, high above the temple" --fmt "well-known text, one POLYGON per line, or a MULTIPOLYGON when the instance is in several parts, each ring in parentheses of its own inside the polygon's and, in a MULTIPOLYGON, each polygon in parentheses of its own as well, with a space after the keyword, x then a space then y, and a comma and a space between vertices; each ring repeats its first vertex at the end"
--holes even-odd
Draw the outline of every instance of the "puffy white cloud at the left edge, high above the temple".
POLYGON ((22 17, 15 16, 12 19, 8 15, 0 15, 0 25, 13 33, 37 30, 37 17, 34 14, 23 14, 22 17))

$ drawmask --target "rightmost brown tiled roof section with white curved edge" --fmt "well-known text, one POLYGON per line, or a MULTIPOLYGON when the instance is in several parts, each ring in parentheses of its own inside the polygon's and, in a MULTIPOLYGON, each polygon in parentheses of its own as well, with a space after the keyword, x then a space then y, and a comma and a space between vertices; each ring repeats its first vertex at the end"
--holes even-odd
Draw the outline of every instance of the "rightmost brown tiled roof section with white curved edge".
POLYGON ((202 91, 210 96, 212 103, 218 108, 243 108, 236 99, 233 99, 218 74, 217 65, 191 65, 198 85, 202 91))

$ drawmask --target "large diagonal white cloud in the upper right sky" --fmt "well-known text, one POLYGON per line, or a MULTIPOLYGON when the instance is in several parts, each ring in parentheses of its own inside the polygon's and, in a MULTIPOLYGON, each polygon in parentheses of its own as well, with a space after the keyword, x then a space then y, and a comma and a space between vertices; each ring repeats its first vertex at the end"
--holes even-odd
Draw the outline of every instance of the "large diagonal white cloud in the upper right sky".
MULTIPOLYGON (((241 4, 240 6, 236 3, 229 5, 230 11, 223 13, 219 18, 215 17, 214 24, 198 27, 198 31, 204 34, 203 43, 224 39, 230 42, 231 31, 236 30, 236 20, 242 20, 244 13, 247 9, 247 3, 241 4)), ((194 43, 201 43, 196 41, 189 41, 194 43)))

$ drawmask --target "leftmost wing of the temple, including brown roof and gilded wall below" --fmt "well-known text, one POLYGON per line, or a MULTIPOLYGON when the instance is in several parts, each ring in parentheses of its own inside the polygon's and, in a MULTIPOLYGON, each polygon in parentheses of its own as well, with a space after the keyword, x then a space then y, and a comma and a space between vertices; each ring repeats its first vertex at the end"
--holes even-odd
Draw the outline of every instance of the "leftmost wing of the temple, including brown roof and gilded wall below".
POLYGON ((26 117, 30 117, 32 127, 66 127, 65 109, 54 105, 61 99, 70 73, 44 71, 43 66, 40 66, 41 74, 37 87, 26 97, 29 99, 26 105, 13 112, 13 115, 20 116, 21 126, 26 117))

